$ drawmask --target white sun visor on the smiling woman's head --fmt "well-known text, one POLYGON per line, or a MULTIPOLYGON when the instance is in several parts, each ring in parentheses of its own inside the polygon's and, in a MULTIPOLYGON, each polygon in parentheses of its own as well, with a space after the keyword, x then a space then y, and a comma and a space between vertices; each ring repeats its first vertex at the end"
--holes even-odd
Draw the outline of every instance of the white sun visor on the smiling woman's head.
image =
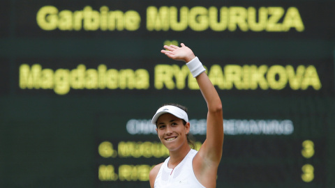
POLYGON ((180 109, 179 107, 167 105, 167 106, 159 108, 156 111, 155 116, 152 117, 151 123, 156 125, 159 116, 161 116, 163 113, 171 113, 173 116, 176 116, 177 118, 181 118, 182 120, 185 120, 186 122, 188 122, 188 116, 187 116, 186 111, 180 109))

